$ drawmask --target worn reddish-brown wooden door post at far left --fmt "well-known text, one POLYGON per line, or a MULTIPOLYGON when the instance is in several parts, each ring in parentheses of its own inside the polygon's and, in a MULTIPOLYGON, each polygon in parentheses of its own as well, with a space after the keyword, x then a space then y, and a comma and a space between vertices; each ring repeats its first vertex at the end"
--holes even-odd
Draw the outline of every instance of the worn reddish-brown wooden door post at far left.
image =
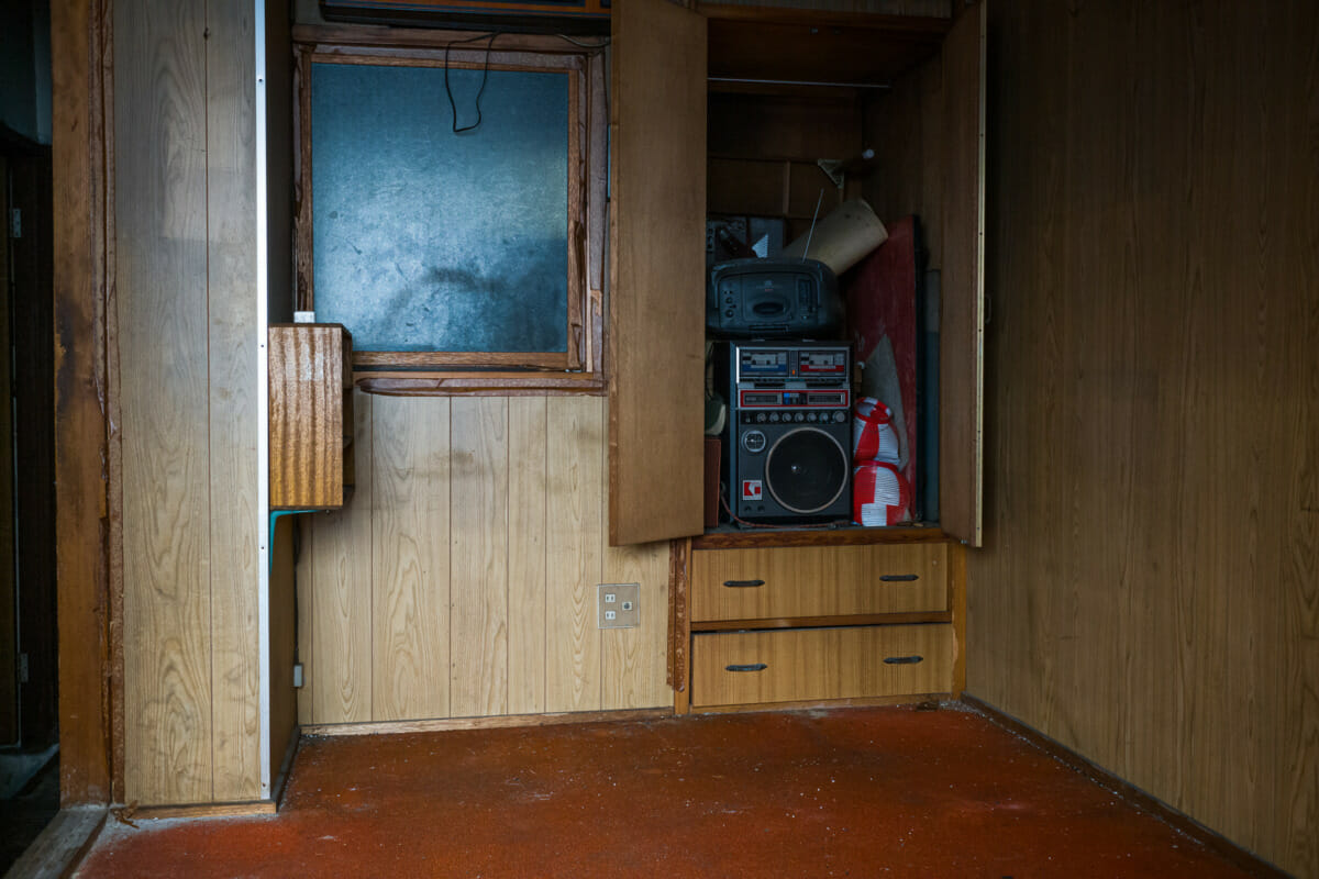
POLYGON ((112 0, 50 4, 54 174, 55 580, 62 805, 121 793, 112 759, 119 688, 111 633, 113 389, 112 0))

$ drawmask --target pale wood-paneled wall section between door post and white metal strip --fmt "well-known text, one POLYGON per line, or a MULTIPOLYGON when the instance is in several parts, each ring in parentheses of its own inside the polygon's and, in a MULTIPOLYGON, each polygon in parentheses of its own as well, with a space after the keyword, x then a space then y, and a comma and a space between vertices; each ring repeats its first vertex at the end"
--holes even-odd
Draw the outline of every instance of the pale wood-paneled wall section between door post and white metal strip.
MULTIPOLYGON (((261 795, 249 3, 113 4, 123 795, 261 795)), ((112 478, 115 473, 112 473, 112 478)))

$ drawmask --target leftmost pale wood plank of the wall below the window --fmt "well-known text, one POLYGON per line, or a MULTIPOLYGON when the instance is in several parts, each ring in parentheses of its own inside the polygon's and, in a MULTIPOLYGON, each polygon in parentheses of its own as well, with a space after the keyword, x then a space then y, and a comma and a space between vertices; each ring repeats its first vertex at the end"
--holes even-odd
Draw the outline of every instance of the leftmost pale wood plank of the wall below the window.
POLYGON ((372 412, 377 398, 356 393, 353 398, 353 447, 361 456, 352 503, 343 510, 299 517, 303 555, 310 560, 307 593, 299 590, 299 608, 310 604, 302 656, 306 666, 303 706, 306 723, 344 723, 372 718, 373 668, 373 517, 376 494, 372 412), (307 710, 310 708, 310 713, 307 710))

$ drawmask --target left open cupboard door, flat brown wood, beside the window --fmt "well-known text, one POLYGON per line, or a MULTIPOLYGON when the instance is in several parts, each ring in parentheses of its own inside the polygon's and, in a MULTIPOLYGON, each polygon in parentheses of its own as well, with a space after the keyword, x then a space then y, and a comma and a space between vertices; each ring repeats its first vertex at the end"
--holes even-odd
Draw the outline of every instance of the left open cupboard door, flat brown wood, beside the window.
POLYGON ((609 543, 700 534, 706 20, 613 7, 609 543))

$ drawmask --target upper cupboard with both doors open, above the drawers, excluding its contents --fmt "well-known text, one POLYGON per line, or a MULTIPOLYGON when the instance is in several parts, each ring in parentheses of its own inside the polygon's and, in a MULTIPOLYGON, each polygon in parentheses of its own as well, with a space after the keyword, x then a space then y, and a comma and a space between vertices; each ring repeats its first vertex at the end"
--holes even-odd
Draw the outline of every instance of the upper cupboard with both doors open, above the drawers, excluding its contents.
MULTIPOLYGON (((706 12, 629 0, 612 14, 611 543, 702 532, 704 219, 707 175, 723 161, 707 140, 707 107, 712 82, 720 112, 785 91, 806 101, 860 91, 778 84, 791 80, 867 86, 864 100, 882 117, 885 141, 873 186, 905 194, 894 206, 931 221, 931 262, 942 273, 939 526, 979 546, 984 4, 951 24, 733 7, 706 12), (736 95, 748 98, 740 104, 736 95), (925 142, 911 148, 922 127, 925 142)), ((861 130, 855 141, 860 149, 861 130)), ((785 167, 790 177, 791 162, 785 167)), ((791 219, 790 179, 783 192, 791 219)))

